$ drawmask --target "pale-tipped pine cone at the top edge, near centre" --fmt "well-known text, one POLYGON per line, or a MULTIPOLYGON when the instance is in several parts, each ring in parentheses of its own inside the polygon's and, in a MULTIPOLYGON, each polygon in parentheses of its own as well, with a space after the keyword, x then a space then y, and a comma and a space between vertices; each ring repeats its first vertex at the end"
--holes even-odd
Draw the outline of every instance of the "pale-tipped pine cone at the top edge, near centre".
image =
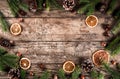
POLYGON ((75 1, 74 0, 64 0, 63 1, 63 8, 65 10, 72 10, 75 7, 75 1))

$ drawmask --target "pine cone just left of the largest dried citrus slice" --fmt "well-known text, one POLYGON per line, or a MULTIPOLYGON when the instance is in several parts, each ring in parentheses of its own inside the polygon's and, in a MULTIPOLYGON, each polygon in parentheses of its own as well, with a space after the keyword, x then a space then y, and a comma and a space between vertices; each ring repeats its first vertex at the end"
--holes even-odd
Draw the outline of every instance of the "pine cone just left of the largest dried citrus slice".
POLYGON ((92 71, 92 69, 94 67, 94 65, 90 59, 84 60, 81 64, 81 66, 82 66, 83 70, 86 72, 92 71))

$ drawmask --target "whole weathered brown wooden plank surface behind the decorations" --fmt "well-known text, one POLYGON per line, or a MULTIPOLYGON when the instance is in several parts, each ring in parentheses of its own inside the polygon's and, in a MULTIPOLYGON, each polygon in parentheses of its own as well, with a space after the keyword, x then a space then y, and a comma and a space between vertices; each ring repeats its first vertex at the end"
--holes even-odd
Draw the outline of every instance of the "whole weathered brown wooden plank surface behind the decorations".
MULTIPOLYGON (((18 18, 12 16, 6 0, 0 0, 0 10, 10 24, 18 22, 18 18)), ((21 52, 24 57, 29 58, 32 65, 28 71, 38 75, 42 72, 37 66, 38 63, 44 63, 48 70, 54 73, 62 68, 66 60, 79 64, 81 57, 91 59, 96 50, 104 49, 101 42, 109 39, 103 36, 101 24, 113 21, 110 16, 95 13, 99 19, 98 25, 89 28, 84 22, 85 15, 67 11, 42 11, 28 15, 24 17, 24 22, 20 22, 23 28, 21 35, 13 36, 0 28, 0 36, 15 41, 16 46, 7 50, 11 53, 21 52)), ((0 79, 10 77, 1 72, 0 79)))

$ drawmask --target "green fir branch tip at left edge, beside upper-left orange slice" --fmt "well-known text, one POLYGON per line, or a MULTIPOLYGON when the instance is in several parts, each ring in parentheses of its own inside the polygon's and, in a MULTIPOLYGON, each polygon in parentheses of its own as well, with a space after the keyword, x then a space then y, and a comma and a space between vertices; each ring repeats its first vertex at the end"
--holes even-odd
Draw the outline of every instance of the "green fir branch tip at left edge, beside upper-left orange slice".
POLYGON ((0 23, 2 26, 2 30, 3 31, 8 31, 9 30, 9 24, 8 22, 5 20, 3 13, 0 11, 0 23))

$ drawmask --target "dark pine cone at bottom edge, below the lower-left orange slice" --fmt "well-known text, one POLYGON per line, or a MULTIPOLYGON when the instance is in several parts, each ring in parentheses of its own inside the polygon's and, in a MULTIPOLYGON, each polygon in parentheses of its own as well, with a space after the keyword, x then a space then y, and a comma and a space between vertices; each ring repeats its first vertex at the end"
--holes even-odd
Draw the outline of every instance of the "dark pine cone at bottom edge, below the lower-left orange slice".
POLYGON ((20 70, 19 69, 10 69, 8 72, 11 79, 20 79, 20 70))

